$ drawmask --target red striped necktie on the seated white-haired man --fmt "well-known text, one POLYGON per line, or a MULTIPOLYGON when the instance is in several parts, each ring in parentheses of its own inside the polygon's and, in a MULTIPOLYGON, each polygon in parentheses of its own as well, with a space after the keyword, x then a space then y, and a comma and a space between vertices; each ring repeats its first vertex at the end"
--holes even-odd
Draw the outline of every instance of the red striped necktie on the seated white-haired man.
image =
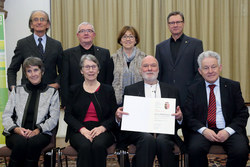
POLYGON ((209 85, 210 94, 209 94, 209 105, 208 105, 208 115, 207 115, 208 128, 216 127, 216 101, 214 95, 214 87, 215 85, 209 85))

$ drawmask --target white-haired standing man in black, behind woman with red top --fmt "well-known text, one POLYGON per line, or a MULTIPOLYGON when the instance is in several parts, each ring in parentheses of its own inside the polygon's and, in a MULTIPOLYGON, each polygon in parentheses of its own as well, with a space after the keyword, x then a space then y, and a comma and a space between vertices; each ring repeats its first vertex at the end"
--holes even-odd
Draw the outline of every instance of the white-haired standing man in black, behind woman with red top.
POLYGON ((101 83, 112 84, 114 64, 110 58, 108 49, 93 44, 96 36, 94 26, 88 22, 82 22, 77 29, 77 38, 80 44, 64 51, 62 74, 62 105, 67 104, 70 88, 83 82, 80 73, 80 59, 84 54, 94 55, 100 63, 100 72, 97 80, 101 83))

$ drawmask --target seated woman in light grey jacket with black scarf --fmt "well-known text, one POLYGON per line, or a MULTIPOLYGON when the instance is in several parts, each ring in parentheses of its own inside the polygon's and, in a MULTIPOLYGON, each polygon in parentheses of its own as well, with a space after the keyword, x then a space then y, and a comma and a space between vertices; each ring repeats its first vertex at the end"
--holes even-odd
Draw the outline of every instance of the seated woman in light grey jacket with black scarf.
POLYGON ((42 82, 42 60, 25 59, 23 71, 29 82, 11 91, 2 115, 6 145, 12 150, 10 167, 38 166, 60 115, 58 91, 42 82))

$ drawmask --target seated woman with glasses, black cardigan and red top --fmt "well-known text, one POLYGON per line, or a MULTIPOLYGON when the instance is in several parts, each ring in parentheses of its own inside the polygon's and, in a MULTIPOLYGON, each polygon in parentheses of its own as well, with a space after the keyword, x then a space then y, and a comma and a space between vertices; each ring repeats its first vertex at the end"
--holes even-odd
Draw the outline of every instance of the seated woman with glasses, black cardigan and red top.
POLYGON ((66 142, 78 152, 77 166, 105 167, 107 148, 114 141, 112 130, 117 109, 114 89, 97 81, 99 62, 83 55, 80 72, 84 82, 72 87, 64 120, 68 124, 66 142))

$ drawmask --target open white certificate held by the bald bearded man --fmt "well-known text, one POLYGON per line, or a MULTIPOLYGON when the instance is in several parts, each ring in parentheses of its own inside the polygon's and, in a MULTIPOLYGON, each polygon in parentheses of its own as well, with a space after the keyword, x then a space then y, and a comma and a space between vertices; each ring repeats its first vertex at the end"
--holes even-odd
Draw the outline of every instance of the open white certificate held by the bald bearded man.
POLYGON ((121 130, 148 133, 175 133, 176 99, 124 97, 121 130))

